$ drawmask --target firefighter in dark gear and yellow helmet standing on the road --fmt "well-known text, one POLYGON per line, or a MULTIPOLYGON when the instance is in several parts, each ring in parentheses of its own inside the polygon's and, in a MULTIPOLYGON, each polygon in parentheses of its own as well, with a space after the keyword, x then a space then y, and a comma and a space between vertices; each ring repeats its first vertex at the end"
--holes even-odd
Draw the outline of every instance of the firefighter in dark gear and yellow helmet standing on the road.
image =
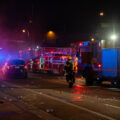
POLYGON ((74 70, 74 64, 72 62, 72 57, 69 56, 67 59, 67 62, 64 67, 65 75, 66 75, 66 81, 69 83, 69 88, 72 87, 73 83, 75 83, 75 70, 74 70))

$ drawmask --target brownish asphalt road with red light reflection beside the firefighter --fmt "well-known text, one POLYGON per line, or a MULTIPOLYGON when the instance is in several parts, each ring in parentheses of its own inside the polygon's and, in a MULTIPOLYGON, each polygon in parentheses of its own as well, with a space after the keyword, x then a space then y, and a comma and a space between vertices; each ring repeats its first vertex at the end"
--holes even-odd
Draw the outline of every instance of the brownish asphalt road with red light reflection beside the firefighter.
POLYGON ((64 76, 29 73, 1 80, 0 95, 37 116, 30 120, 120 120, 120 89, 87 87, 83 78, 68 88, 64 76))

